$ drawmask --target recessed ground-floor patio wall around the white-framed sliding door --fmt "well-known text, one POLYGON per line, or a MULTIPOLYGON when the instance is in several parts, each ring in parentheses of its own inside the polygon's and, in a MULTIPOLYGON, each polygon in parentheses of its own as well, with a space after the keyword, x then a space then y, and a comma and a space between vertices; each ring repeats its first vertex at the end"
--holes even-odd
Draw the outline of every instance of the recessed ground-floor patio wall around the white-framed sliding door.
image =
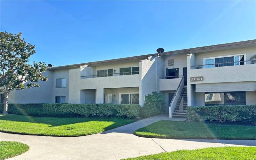
POLYGON ((106 88, 105 94, 112 94, 112 103, 118 104, 120 102, 119 93, 139 93, 139 87, 131 88, 106 88))

